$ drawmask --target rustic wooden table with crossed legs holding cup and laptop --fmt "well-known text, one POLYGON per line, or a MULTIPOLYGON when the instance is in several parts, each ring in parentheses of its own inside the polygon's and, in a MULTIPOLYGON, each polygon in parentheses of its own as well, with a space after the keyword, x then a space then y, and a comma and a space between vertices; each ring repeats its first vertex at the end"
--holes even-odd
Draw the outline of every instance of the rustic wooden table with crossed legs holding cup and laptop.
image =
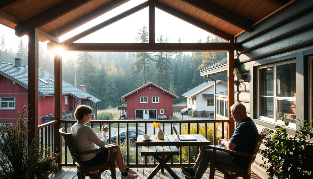
MULTIPOLYGON (((211 142, 207 140, 201 134, 190 134, 196 137, 197 140, 179 140, 177 135, 164 135, 164 139, 160 140, 156 138, 156 135, 151 135, 151 141, 142 141, 142 135, 138 135, 136 145, 141 146, 141 153, 144 155, 152 155, 159 164, 150 173, 147 179, 153 178, 158 171, 162 168, 166 169, 168 173, 174 178, 179 179, 176 173, 167 165, 173 155, 177 155, 177 150, 173 146, 203 146, 211 145, 211 142), (164 155, 160 157, 159 155, 164 155)), ((201 147, 200 147, 201 149, 201 147)), ((178 153, 179 154, 179 153, 178 153)))

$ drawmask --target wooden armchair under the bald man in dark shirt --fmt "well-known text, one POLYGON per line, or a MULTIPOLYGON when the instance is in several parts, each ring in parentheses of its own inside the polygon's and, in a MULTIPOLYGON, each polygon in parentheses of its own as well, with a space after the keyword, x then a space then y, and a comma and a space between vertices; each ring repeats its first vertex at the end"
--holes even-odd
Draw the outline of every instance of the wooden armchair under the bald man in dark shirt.
POLYGON ((243 152, 236 152, 234 150, 220 148, 218 146, 210 145, 210 149, 213 149, 213 155, 212 155, 212 158, 210 161, 210 176, 209 176, 210 179, 214 178, 215 170, 222 172, 227 179, 234 179, 234 178, 239 177, 239 176, 243 177, 244 179, 250 179, 250 177, 251 177, 251 164, 255 161, 255 157, 256 157, 258 150, 260 148, 261 142, 263 140, 262 135, 267 134, 267 133, 268 133, 268 130, 263 129, 260 134, 257 134, 256 140, 254 143, 254 147, 252 149, 252 154, 243 153, 243 152), (231 166, 231 165, 219 163, 219 162, 215 161, 216 150, 225 151, 225 152, 232 153, 232 154, 247 156, 250 158, 250 160, 247 162, 246 167, 239 167, 239 166, 237 167, 237 166, 231 166), (229 174, 227 171, 232 172, 233 174, 229 174))

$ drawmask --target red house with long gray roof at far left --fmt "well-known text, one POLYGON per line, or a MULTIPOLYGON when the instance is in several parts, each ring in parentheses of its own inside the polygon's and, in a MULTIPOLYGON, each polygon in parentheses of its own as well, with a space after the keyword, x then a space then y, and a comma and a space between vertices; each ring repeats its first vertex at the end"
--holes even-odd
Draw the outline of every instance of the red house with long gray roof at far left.
MULTIPOLYGON (((0 62, 0 119, 15 124, 18 110, 28 104, 28 67, 21 65, 21 59, 15 64, 0 62)), ((38 124, 54 119, 54 76, 39 68, 38 78, 38 124)), ((74 109, 86 104, 97 113, 100 100, 87 92, 62 80, 62 118, 74 119, 74 109)), ((0 124, 1 125, 1 124, 0 124)))

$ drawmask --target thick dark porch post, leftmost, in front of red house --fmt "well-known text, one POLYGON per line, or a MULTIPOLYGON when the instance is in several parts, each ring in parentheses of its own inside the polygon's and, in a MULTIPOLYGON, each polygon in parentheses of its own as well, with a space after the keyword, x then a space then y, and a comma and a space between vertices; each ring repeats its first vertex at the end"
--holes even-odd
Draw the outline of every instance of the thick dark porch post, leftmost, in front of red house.
POLYGON ((28 30, 28 142, 38 136, 38 29, 28 30))

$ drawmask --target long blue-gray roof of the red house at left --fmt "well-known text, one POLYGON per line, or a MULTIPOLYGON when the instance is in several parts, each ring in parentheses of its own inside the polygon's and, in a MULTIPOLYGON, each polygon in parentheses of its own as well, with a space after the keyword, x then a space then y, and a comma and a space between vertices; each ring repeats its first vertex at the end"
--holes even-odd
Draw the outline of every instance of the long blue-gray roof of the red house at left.
MULTIPOLYGON (((38 92, 39 96, 54 95, 54 75, 39 68, 38 79, 38 92)), ((18 83, 22 87, 28 89, 28 66, 22 66, 21 68, 14 64, 0 62, 0 75, 7 77, 8 79, 18 83)), ((100 102, 100 99, 90 95, 87 92, 82 91, 79 88, 74 87, 62 80, 62 94, 70 94, 78 99, 90 99, 90 101, 96 103, 100 102)))

